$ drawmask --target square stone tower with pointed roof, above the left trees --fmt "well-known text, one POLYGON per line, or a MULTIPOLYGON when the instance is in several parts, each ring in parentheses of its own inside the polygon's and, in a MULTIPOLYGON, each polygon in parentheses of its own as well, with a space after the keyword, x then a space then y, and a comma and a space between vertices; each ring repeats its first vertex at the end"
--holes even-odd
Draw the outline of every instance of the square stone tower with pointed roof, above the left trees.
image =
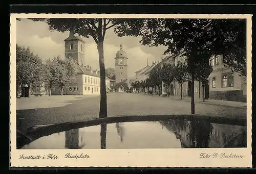
POLYGON ((65 58, 73 58, 80 66, 85 63, 84 41, 80 36, 74 35, 74 30, 70 30, 69 37, 65 41, 65 58))

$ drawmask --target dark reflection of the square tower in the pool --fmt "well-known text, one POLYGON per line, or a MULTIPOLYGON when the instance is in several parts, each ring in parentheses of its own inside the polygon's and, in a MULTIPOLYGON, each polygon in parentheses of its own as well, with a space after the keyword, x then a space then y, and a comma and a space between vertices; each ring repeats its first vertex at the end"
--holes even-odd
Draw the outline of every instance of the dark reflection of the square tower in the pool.
POLYGON ((83 143, 82 136, 79 136, 79 129, 72 129, 65 132, 65 147, 67 148, 82 148, 85 143, 83 143))

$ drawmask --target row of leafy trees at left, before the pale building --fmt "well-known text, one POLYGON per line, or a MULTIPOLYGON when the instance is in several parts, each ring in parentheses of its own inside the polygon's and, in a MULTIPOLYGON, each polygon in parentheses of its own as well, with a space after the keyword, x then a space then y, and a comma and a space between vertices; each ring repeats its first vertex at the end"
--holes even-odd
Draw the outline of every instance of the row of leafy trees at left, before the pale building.
POLYGON ((30 48, 16 45, 16 85, 30 86, 35 82, 44 82, 50 85, 58 84, 63 94, 63 88, 76 80, 76 65, 73 59, 61 60, 54 57, 43 62, 38 55, 33 54, 30 48))

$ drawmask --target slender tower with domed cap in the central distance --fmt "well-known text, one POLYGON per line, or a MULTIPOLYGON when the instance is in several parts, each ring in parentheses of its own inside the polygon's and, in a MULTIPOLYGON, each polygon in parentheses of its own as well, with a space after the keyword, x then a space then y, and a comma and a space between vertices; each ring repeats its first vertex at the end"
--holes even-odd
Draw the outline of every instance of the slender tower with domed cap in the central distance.
MULTIPOLYGON (((120 50, 116 53, 115 57, 115 70, 116 70, 116 83, 126 80, 127 77, 127 56, 123 51, 123 45, 120 44, 120 50)), ((128 83, 126 81, 126 83, 128 83)))

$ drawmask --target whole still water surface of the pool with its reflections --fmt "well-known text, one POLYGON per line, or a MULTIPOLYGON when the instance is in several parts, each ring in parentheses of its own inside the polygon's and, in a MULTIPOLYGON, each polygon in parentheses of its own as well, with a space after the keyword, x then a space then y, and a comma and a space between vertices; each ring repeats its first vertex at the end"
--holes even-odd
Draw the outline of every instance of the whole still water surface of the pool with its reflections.
POLYGON ((246 127, 210 123, 202 119, 103 123, 42 136, 22 148, 204 147, 246 147, 246 127))

